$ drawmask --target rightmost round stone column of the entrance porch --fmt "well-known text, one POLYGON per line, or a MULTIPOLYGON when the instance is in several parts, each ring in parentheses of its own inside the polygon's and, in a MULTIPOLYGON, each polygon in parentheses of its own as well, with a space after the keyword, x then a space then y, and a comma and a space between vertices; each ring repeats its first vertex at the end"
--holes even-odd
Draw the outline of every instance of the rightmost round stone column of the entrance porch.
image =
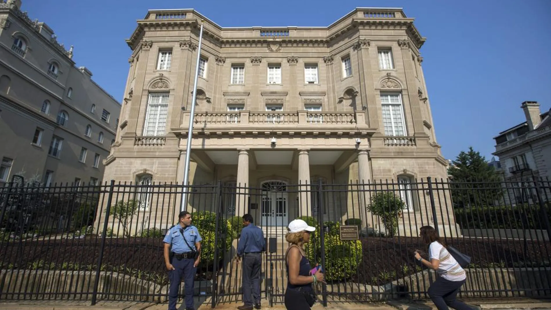
POLYGON ((370 184, 371 180, 371 168, 369 166, 369 151, 368 150, 359 150, 358 151, 358 200, 360 203, 360 219, 362 227, 373 227, 373 219, 371 218, 371 212, 366 211, 366 206, 369 204, 370 200, 370 184))

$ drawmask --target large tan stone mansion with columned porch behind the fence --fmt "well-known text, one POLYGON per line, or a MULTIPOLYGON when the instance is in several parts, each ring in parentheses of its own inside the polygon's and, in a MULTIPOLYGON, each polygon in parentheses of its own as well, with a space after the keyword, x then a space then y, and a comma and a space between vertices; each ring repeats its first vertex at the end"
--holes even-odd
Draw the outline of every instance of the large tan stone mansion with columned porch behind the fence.
MULTIPOLYGON (((287 225, 317 210, 316 199, 289 185, 318 180, 397 180, 406 222, 426 210, 428 197, 412 182, 445 179, 447 162, 421 66, 425 38, 399 8, 356 8, 327 27, 278 28, 223 28, 193 9, 149 10, 127 40, 127 95, 105 180, 182 182, 201 20, 190 182, 250 187, 241 189, 250 197, 225 202, 226 215, 250 211, 262 225, 287 225)), ((348 200, 342 216, 365 218, 357 195, 326 203, 346 213, 348 200)), ((138 195, 143 210, 154 196, 138 195)), ((175 200, 164 205, 179 209, 175 200)))

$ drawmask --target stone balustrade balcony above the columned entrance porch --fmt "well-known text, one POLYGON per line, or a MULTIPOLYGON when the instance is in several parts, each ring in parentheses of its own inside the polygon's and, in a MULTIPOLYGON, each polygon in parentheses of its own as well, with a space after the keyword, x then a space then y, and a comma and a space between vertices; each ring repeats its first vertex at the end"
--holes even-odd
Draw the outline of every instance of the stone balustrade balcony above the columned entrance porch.
MULTIPOLYGON (((181 124, 187 128, 190 112, 184 111, 181 124)), ((235 131, 288 131, 288 132, 375 132, 369 128, 365 111, 354 112, 310 112, 310 111, 230 111, 196 112, 193 128, 204 132, 235 131)))

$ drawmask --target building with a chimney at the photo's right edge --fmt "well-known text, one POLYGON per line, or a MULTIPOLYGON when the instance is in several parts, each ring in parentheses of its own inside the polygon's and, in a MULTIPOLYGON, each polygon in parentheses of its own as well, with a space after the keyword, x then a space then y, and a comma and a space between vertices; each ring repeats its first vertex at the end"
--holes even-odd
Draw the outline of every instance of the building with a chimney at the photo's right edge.
POLYGON ((492 154, 499 156, 505 184, 507 187, 519 187, 506 195, 510 196, 505 197, 507 204, 534 200, 536 192, 533 185, 524 184, 525 188, 521 188, 521 179, 551 179, 551 110, 541 113, 536 101, 522 102, 521 108, 524 110, 526 122, 494 137, 496 145, 492 154))

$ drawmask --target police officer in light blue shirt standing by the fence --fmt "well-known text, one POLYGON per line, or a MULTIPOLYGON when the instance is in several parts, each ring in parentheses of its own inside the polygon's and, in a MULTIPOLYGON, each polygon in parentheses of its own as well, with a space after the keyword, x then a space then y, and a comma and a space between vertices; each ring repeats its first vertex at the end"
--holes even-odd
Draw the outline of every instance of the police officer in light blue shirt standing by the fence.
POLYGON ((193 310, 193 278, 201 262, 201 236, 197 227, 191 225, 191 214, 181 211, 178 224, 170 227, 163 240, 165 264, 169 270, 169 310, 176 310, 178 289, 183 276, 186 294, 186 310, 193 310))

